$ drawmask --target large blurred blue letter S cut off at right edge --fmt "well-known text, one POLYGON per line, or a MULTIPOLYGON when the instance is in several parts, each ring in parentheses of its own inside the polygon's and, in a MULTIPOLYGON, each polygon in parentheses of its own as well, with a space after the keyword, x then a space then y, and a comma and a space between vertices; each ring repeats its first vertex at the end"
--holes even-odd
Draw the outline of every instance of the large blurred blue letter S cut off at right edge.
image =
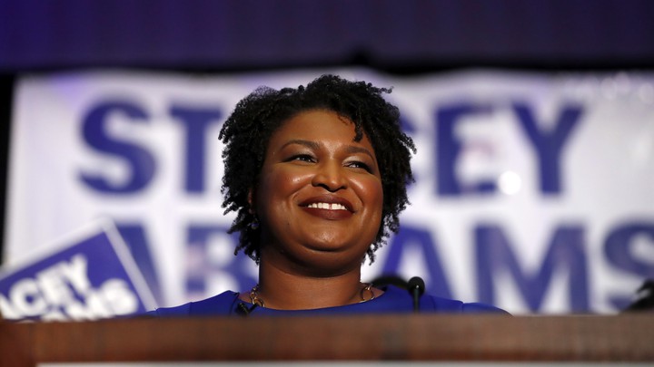
MULTIPOLYGON (((654 264, 634 254, 637 238, 646 246, 654 245, 654 224, 645 222, 625 223, 610 231, 604 242, 604 254, 609 263, 619 270, 644 279, 654 279, 654 264)), ((624 309, 633 301, 634 290, 629 295, 611 295, 610 303, 624 309)))

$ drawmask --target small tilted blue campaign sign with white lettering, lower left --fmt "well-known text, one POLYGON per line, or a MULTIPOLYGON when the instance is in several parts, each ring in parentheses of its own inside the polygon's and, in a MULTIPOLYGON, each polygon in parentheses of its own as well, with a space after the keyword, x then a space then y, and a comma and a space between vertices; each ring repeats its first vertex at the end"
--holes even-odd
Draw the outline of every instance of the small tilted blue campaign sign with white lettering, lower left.
POLYGON ((154 308, 154 297, 111 221, 96 221, 45 248, 48 253, 0 269, 5 319, 96 320, 154 308))

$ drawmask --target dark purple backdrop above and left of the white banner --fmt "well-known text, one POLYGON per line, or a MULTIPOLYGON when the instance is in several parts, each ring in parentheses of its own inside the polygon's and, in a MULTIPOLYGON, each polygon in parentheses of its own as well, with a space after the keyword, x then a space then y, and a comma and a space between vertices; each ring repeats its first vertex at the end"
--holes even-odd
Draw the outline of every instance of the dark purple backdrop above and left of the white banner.
POLYGON ((0 0, 0 241, 20 75, 330 66, 651 72, 654 1, 0 0))

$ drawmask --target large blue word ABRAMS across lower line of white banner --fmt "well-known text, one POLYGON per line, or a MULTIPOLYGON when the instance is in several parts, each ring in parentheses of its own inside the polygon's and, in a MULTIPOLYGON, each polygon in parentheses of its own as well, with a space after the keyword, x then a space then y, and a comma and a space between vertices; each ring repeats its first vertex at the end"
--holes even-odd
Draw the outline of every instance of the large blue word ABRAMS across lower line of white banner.
MULTIPOLYGON (((187 254, 200 255, 202 264, 194 264, 197 267, 187 269, 185 282, 187 294, 205 295, 207 279, 217 274, 230 276, 239 289, 249 289, 256 283, 255 277, 247 271, 247 267, 252 265, 247 256, 233 256, 232 259, 221 259, 218 263, 213 262, 211 256, 207 256, 212 238, 227 236, 227 229, 227 226, 198 224, 191 224, 188 227, 187 254)), ((566 285, 570 311, 589 312, 589 269, 584 232, 581 226, 556 227, 539 265, 533 271, 527 271, 516 256, 515 248, 518 245, 512 244, 507 239, 501 227, 491 224, 477 225, 474 228, 475 253, 471 260, 476 263, 478 301, 497 304, 497 289, 502 286, 499 275, 509 275, 530 311, 538 313, 542 311, 545 295, 551 289, 554 275, 560 273, 568 275, 566 285)), ((125 225, 121 226, 121 233, 131 238, 128 242, 133 247, 134 257, 139 263, 143 263, 143 259, 147 256, 139 255, 143 251, 134 248, 138 246, 133 245, 138 243, 134 241, 134 237, 143 237, 143 235, 134 236, 134 233, 140 232, 125 225)), ((402 226, 391 238, 388 256, 385 257, 381 274, 399 274, 402 257, 408 249, 416 249, 421 253, 421 259, 425 262, 424 267, 428 272, 425 279, 427 292, 431 295, 451 298, 449 278, 442 267, 439 244, 434 240, 434 236, 435 233, 429 227, 402 226)), ((621 225, 610 231, 604 247, 606 257, 609 263, 618 269, 642 278, 652 278, 654 264, 644 261, 633 253, 632 246, 635 238, 639 236, 649 241, 654 239, 654 225, 635 222, 621 225)), ((231 252, 238 244, 238 236, 227 237, 230 240, 219 243, 218 246, 229 246, 231 252)), ((649 242, 652 243, 654 242, 649 242)), ((609 302, 617 309, 623 309, 632 300, 633 291, 629 289, 628 295, 609 295, 609 302)))

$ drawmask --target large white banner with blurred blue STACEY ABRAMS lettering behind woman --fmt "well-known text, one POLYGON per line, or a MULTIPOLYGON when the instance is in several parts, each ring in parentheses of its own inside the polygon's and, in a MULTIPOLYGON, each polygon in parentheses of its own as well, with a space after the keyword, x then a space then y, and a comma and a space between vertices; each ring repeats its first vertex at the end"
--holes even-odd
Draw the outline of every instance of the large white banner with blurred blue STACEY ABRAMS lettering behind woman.
POLYGON ((412 205, 363 280, 515 314, 616 313, 654 277, 654 76, 369 70, 235 75, 66 72, 15 93, 5 258, 114 221, 159 305, 246 290, 225 233, 218 140, 259 85, 323 72, 392 86, 418 147, 412 205))

